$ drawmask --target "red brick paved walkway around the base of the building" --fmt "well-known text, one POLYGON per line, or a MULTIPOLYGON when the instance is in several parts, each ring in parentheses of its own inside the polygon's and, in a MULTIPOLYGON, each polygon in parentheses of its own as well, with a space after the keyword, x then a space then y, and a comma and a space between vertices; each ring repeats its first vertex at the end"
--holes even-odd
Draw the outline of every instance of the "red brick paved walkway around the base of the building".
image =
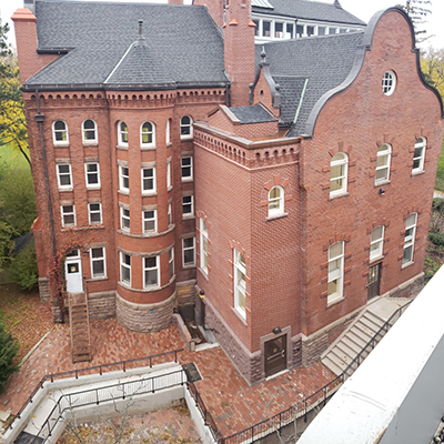
MULTIPOLYGON (((91 322, 91 343, 93 361, 72 364, 69 326, 60 325, 53 330, 20 372, 11 377, 6 392, 0 395, 0 408, 11 408, 16 413, 46 374, 184 347, 175 326, 155 333, 135 333, 119 325, 115 319, 91 322)), ((201 352, 181 352, 179 357, 181 364, 195 362, 203 376, 195 383, 196 389, 224 436, 294 405, 334 377, 327 369, 315 364, 309 369, 293 369, 250 386, 219 346, 201 352)))

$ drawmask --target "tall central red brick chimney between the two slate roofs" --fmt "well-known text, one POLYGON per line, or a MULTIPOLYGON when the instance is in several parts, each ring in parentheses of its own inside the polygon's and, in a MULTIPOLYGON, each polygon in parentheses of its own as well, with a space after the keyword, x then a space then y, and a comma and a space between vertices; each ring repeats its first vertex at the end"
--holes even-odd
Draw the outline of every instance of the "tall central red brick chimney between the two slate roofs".
POLYGON ((251 0, 226 0, 224 23, 225 71, 231 80, 230 104, 249 104, 254 81, 254 29, 251 0))

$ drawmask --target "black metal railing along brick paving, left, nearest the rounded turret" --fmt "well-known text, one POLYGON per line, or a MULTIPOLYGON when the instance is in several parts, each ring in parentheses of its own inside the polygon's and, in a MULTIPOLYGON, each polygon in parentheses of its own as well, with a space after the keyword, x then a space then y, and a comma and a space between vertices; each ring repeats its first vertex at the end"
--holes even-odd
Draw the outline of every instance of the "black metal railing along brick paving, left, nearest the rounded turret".
MULTIPOLYGON (((180 350, 173 350, 170 352, 165 353, 160 353, 151 356, 144 356, 144 357, 138 357, 134 360, 125 360, 125 361, 119 361, 119 362, 113 362, 110 364, 102 364, 102 365, 94 365, 91 367, 85 367, 85 369, 77 369, 77 370, 70 370, 68 372, 61 372, 61 373, 53 373, 49 375, 44 375, 40 382, 37 384, 36 389, 32 391, 30 396, 27 398, 24 404, 21 406, 19 412, 16 415, 11 415, 9 422, 4 425, 4 428, 7 430, 8 427, 12 428, 13 423, 21 417, 21 414, 23 413, 24 408, 32 403, 34 396, 37 395, 38 392, 40 392, 41 389, 43 389, 43 384, 48 381, 54 382, 54 380, 60 380, 64 377, 70 377, 74 376, 78 379, 79 376, 85 376, 85 375, 91 375, 91 374, 97 374, 99 373, 102 375, 105 372, 111 372, 111 371, 119 371, 122 370, 125 372, 127 370, 130 369, 135 369, 139 365, 134 364, 143 364, 148 363, 150 367, 153 366, 153 362, 159 363, 159 361, 163 357, 174 355, 174 362, 178 362, 178 353, 183 352, 183 349, 180 350)), ((167 361, 163 361, 167 362, 167 361)), ((147 364, 144 365, 147 366, 147 364)))

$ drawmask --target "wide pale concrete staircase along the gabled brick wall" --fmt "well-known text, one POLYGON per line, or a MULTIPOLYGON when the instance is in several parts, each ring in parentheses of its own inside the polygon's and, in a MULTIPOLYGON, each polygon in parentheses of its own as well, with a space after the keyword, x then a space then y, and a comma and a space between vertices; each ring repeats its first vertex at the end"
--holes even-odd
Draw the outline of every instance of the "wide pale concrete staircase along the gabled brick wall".
MULTIPOLYGON (((374 302, 372 301, 345 332, 322 354, 321 362, 339 376, 386 323, 392 314, 407 302, 407 299, 401 297, 380 297, 374 302)), ((363 359, 365 359, 384 337, 397 319, 398 316, 395 316, 387 325, 387 329, 382 330, 372 346, 362 354, 363 359)), ((353 374, 357 366, 357 363, 353 364, 347 372, 347 377, 353 374)))

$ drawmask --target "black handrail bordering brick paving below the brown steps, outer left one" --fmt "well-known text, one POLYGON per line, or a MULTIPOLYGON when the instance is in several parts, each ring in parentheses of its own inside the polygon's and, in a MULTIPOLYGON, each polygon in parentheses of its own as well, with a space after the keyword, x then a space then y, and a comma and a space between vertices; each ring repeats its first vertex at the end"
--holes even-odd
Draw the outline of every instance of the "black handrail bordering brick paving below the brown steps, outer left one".
POLYGON ((173 350, 170 352, 165 352, 165 353, 159 353, 159 354, 154 354, 151 356, 144 356, 144 357, 137 357, 134 360, 125 360, 125 361, 119 361, 119 362, 114 362, 114 363, 110 363, 110 364, 101 364, 101 365, 94 365, 91 367, 85 367, 85 369, 75 369, 75 370, 70 370, 68 372, 60 372, 60 373, 52 373, 49 375, 44 375, 40 382, 37 384, 36 389, 32 391, 31 395, 28 397, 28 400, 23 403, 23 405, 21 406, 21 408, 19 410, 19 412, 16 415, 11 415, 10 417, 10 422, 7 423, 4 425, 4 428, 12 428, 13 423, 16 422, 16 420, 19 420, 21 417, 21 414, 23 413, 24 408, 28 406, 28 404, 32 403, 33 397, 36 396, 36 394, 43 389, 43 384, 47 381, 51 381, 54 382, 54 380, 57 379, 63 379, 63 377, 69 377, 69 376, 75 376, 75 379, 79 379, 79 374, 81 373, 87 373, 91 374, 91 372, 93 371, 99 371, 99 374, 102 375, 103 374, 103 370, 107 370, 109 367, 122 367, 122 371, 125 372, 127 371, 127 366, 129 364, 135 363, 135 362, 145 362, 149 361, 150 362, 150 367, 152 367, 152 363, 153 360, 158 359, 158 357, 163 357, 163 356, 168 356, 171 354, 174 354, 174 362, 178 362, 178 353, 183 352, 184 349, 180 349, 180 350, 173 350))

